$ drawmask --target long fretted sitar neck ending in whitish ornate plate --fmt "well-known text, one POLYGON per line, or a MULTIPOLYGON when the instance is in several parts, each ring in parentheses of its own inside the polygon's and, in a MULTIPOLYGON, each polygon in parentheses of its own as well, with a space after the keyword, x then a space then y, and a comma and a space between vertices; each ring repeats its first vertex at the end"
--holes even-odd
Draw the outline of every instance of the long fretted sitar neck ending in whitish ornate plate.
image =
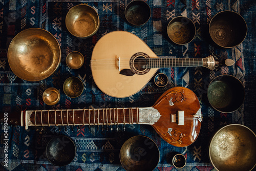
POLYGON ((22 112, 22 126, 154 124, 159 112, 150 108, 37 110, 22 112), (151 111, 155 115, 148 116, 151 111))

